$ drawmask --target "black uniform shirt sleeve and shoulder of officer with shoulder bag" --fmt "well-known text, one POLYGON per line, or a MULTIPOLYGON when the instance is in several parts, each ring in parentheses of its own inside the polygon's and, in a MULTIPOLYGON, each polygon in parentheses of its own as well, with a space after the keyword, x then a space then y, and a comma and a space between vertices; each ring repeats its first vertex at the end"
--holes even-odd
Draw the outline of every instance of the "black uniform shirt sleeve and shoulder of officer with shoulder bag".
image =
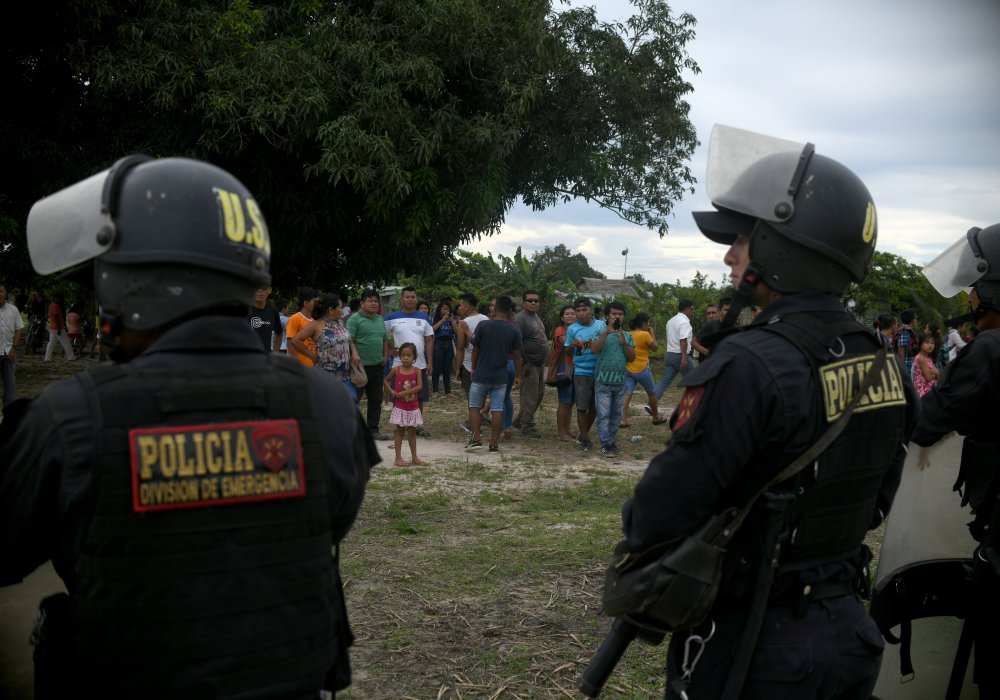
MULTIPOLYGON (((724 508, 744 506, 826 429, 818 377, 807 358, 784 338, 758 329, 776 316, 803 311, 847 317, 832 295, 780 297, 685 377, 681 385, 688 391, 671 419, 673 437, 622 510, 629 549, 692 534, 724 508)), ((874 346, 847 350, 873 352, 874 346)), ((908 434, 917 397, 905 378, 904 387, 907 409, 900 420, 908 434)), ((886 513, 899 485, 902 444, 897 452, 878 497, 886 513)))

